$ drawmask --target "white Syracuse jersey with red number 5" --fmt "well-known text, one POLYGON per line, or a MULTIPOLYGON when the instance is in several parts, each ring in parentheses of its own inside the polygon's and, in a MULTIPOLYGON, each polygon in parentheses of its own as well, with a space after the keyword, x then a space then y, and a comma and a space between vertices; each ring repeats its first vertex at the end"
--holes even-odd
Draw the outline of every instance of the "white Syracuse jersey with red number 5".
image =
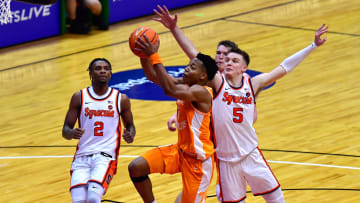
POLYGON ((258 146, 254 91, 247 75, 239 88, 231 87, 224 76, 222 80, 212 108, 215 151, 222 161, 239 161, 258 146))

